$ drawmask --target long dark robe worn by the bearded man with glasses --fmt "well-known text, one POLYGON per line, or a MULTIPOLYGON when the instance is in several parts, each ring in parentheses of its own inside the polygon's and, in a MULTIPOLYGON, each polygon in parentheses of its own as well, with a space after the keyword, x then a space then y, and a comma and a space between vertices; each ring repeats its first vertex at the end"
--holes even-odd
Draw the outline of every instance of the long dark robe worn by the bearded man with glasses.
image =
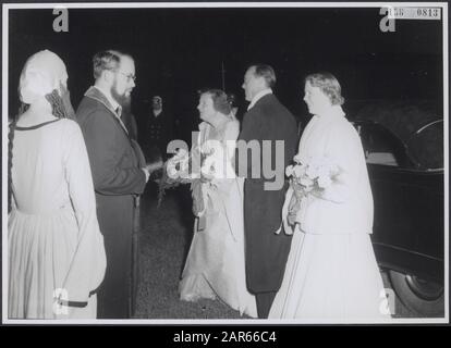
POLYGON ((144 191, 143 154, 105 96, 89 88, 76 112, 93 172, 107 272, 98 294, 99 318, 127 318, 135 197, 144 191))

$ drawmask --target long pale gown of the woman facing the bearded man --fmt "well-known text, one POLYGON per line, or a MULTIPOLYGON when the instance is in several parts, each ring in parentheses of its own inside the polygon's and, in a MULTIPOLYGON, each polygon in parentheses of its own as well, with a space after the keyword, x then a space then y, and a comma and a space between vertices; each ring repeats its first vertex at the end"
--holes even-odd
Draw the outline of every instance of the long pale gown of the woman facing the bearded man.
MULTIPOLYGON (((231 120, 216 132, 202 123, 197 145, 202 147, 207 140, 220 140, 231 170, 239 127, 239 122, 231 120)), ((233 170, 231 172, 234 176, 233 170)), ((180 297, 186 301, 219 298, 241 314, 255 318, 255 297, 248 293, 245 277, 243 179, 228 177, 217 179, 216 187, 208 183, 202 185, 206 202, 205 226, 202 228, 199 219, 196 220, 179 285, 180 297)))

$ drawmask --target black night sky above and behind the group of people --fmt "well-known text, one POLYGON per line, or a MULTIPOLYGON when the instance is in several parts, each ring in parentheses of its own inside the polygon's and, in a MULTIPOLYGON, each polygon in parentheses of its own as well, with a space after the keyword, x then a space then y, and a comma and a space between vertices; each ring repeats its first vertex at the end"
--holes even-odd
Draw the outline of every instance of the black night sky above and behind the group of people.
MULTIPOLYGON (((118 49, 135 58, 135 113, 153 94, 174 113, 195 113, 196 90, 221 88, 244 103, 243 75, 251 63, 272 65, 276 94, 297 116, 306 113, 303 78, 329 71, 349 104, 373 99, 430 100, 442 104, 441 21, 397 21, 382 33, 379 9, 69 9, 69 33, 54 33, 52 10, 11 10, 10 108, 17 105, 19 75, 41 49, 68 66, 76 108, 93 84, 92 57, 118 49)), ((139 115, 138 115, 139 117, 139 115)))

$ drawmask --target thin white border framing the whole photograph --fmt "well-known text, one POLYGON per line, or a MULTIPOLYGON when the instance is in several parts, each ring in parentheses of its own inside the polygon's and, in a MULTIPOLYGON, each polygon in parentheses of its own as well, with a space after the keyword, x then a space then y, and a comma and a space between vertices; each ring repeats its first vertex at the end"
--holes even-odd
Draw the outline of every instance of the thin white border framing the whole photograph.
MULTIPOLYGON (((444 318, 393 319, 390 324, 444 324, 449 323, 449 53, 448 53, 448 3, 447 2, 54 2, 54 3, 3 3, 2 17, 2 323, 3 324, 102 324, 102 325, 293 325, 293 324, 368 324, 366 321, 330 320, 10 320, 8 319, 8 104, 9 104, 9 11, 31 9, 235 9, 235 8, 382 8, 382 7, 435 7, 442 13, 442 63, 443 63, 443 147, 444 147, 444 318)), ((370 322, 369 324, 383 324, 370 322)))

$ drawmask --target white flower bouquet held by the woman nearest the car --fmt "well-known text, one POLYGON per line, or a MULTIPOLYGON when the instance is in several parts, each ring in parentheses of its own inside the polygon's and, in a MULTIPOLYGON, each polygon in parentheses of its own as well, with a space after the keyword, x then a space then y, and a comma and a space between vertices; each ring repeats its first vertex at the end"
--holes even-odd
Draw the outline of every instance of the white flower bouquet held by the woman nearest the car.
POLYGON ((285 170, 293 188, 293 196, 289 206, 288 221, 290 225, 296 222, 296 214, 301 208, 301 201, 307 195, 320 197, 326 188, 337 182, 340 169, 327 157, 301 159, 294 157, 294 164, 285 170))

